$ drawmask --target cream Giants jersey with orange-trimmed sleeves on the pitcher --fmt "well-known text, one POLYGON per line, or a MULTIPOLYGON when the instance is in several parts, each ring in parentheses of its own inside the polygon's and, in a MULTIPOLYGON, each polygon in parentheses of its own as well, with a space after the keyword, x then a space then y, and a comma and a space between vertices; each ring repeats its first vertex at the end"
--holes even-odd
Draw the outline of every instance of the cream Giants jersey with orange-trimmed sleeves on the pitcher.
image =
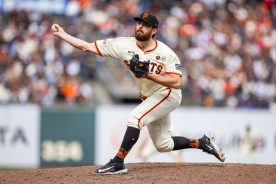
POLYGON ((138 90, 143 96, 150 96, 154 92, 162 91, 167 87, 148 79, 137 79, 129 69, 130 59, 133 54, 128 51, 139 54, 140 61, 150 60, 151 74, 166 75, 173 73, 182 76, 180 61, 175 52, 161 41, 155 40, 155 43, 156 46, 154 49, 144 51, 137 44, 137 40, 134 37, 95 41, 99 55, 102 57, 115 58, 128 68, 128 72, 133 76, 135 83, 137 83, 138 90))

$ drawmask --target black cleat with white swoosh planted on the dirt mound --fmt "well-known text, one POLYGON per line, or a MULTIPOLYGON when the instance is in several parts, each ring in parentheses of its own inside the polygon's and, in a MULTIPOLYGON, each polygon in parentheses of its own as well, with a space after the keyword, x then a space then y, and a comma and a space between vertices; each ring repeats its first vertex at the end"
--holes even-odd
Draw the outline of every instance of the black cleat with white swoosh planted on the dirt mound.
POLYGON ((109 163, 93 171, 93 174, 125 174, 127 172, 128 169, 124 163, 117 163, 113 159, 110 159, 109 163))

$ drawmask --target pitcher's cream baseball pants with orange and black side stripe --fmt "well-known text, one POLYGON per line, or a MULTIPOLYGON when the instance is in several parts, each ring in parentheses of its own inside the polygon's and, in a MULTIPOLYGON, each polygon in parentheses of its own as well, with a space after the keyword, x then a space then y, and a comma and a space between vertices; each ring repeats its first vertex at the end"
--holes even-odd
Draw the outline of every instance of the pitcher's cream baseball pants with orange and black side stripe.
POLYGON ((181 90, 167 88, 156 92, 132 110, 127 126, 141 130, 147 125, 148 133, 159 152, 170 152, 174 147, 170 135, 170 112, 181 103, 181 90))

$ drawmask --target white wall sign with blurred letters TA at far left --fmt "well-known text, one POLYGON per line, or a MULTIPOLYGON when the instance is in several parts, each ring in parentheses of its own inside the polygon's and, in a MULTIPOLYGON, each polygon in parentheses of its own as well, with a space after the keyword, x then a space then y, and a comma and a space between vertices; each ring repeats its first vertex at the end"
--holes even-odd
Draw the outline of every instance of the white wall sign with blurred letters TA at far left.
POLYGON ((0 105, 0 167, 39 167, 37 105, 0 105))

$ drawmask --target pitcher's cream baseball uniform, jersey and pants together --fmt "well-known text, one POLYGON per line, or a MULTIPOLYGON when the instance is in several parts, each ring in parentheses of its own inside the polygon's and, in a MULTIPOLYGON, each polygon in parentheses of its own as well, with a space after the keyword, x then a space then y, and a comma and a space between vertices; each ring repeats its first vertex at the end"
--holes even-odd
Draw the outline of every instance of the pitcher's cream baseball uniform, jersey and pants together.
MULTIPOLYGON (((129 69, 130 59, 135 52, 139 54, 140 61, 150 60, 150 73, 157 75, 181 74, 181 65, 177 55, 167 45, 155 40, 155 48, 143 50, 135 38, 106 39, 95 42, 97 51, 102 57, 112 57, 121 61, 122 65, 129 69)), ((170 152, 174 143, 170 136, 170 112, 175 110, 181 102, 181 90, 171 89, 148 79, 137 79, 141 95, 146 96, 134 110, 132 110, 128 126, 141 129, 145 125, 148 133, 159 152, 170 152)))

